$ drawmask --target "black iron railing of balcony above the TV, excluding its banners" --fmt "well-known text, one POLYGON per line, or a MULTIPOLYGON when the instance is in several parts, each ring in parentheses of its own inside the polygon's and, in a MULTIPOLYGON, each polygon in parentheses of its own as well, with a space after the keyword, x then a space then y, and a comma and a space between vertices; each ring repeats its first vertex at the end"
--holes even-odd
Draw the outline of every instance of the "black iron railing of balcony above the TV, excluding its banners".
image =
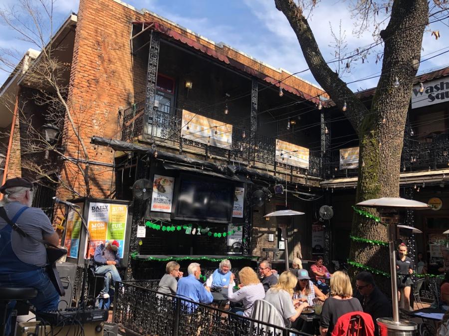
MULTIPOLYGON (((164 107, 151 112, 150 115, 144 115, 145 103, 140 102, 124 111, 124 127, 122 131, 122 140, 132 141, 138 137, 164 145, 170 142, 183 148, 188 146, 201 149, 201 154, 208 157, 217 157, 228 162, 244 162, 250 165, 260 167, 271 166, 274 169, 282 169, 282 172, 290 174, 307 174, 310 176, 321 176, 321 157, 319 152, 309 153, 309 168, 275 162, 275 144, 276 139, 261 134, 255 134, 254 144, 251 144, 251 138, 248 129, 239 128, 232 125, 232 141, 230 148, 221 148, 196 140, 181 137, 182 124, 181 115, 173 115, 168 111, 164 111, 164 107), (145 120, 148 120, 146 122, 145 120)), ((199 151, 195 151, 199 152, 199 151)))

